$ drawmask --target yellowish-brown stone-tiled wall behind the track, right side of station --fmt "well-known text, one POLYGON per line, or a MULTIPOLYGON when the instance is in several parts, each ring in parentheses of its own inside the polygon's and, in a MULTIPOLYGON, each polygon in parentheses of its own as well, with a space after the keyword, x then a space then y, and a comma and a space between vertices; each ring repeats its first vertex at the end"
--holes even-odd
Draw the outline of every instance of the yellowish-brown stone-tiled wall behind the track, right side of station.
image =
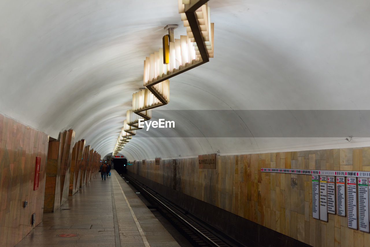
POLYGON ((217 156, 216 169, 198 158, 130 162, 138 174, 312 246, 365 246, 370 234, 347 217, 312 218, 310 175, 262 173, 260 168, 370 171, 370 147, 217 156))

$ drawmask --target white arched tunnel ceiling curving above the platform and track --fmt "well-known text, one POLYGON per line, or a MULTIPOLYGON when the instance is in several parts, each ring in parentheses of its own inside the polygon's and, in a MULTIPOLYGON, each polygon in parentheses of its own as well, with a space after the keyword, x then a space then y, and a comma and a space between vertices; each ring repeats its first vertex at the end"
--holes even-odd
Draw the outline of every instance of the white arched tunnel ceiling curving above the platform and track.
MULTIPOLYGON (((170 79, 170 103, 159 108, 171 110, 166 120, 177 117, 174 110, 369 109, 369 1, 208 4, 215 57, 170 79)), ((143 60, 162 46, 163 27, 179 24, 175 37, 185 34, 176 0, 3 0, 0 13, 0 113, 54 138, 72 128, 102 156, 114 148, 132 93, 142 87, 143 60)), ((192 133, 204 119, 181 122, 181 130, 192 133)), ((334 137, 137 133, 121 151, 132 160, 350 145, 334 137)))

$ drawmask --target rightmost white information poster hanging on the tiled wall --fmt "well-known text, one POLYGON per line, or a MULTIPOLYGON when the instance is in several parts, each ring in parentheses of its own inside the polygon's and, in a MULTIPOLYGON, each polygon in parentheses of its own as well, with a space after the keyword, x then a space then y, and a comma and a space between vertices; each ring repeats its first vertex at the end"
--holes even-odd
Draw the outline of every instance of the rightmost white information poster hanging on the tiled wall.
POLYGON ((357 178, 359 190, 359 230, 369 232, 369 189, 367 178, 357 178))

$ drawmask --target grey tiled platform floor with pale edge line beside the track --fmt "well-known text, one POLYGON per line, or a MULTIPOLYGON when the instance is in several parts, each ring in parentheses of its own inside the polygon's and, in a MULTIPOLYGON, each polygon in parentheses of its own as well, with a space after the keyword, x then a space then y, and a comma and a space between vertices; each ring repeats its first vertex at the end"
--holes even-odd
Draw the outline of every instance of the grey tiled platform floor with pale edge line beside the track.
MULTIPOLYGON (((99 174, 100 175, 100 174, 99 174)), ((17 247, 179 246, 125 181, 98 176, 43 221, 17 247), (78 234, 59 237, 59 234, 78 234)))

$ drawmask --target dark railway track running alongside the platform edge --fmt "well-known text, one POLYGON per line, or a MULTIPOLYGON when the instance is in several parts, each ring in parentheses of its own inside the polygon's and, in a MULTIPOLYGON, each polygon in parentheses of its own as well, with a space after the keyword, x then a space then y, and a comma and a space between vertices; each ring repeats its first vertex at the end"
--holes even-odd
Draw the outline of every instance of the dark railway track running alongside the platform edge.
POLYGON ((124 174, 122 178, 129 181, 193 246, 242 246, 219 236, 204 223, 196 222, 194 217, 188 217, 185 210, 169 202, 136 179, 127 174, 124 174))

